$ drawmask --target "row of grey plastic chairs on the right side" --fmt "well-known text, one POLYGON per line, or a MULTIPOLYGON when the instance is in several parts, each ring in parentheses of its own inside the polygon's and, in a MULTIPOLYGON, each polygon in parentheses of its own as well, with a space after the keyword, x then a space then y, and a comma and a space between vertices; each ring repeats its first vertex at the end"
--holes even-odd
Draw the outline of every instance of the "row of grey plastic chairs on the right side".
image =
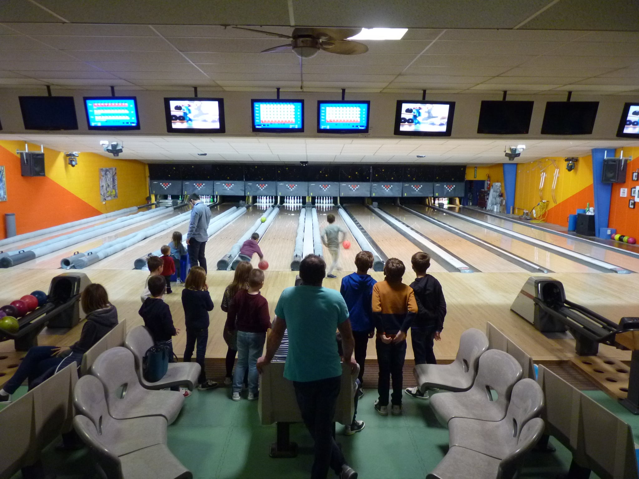
POLYGON ((449 365, 416 365, 422 392, 433 393, 430 405, 449 428, 449 450, 431 479, 472 477, 510 479, 525 453, 544 432, 537 417, 544 394, 533 379, 521 379, 520 363, 510 354, 488 349, 482 331, 466 330, 455 361, 449 365))

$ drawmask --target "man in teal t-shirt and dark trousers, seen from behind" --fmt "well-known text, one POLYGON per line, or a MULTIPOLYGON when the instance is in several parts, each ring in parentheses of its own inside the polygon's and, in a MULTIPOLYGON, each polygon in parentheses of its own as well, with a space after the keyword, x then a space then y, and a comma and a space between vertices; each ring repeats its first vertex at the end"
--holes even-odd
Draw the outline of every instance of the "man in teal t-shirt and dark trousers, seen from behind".
POLYGON ((335 443, 332 424, 342 376, 335 330, 342 335, 344 363, 350 363, 352 370, 357 369, 352 357, 355 340, 344 298, 339 291, 321 285, 325 273, 321 257, 309 254, 302 260, 302 284, 282 291, 258 369, 270 363, 288 330, 284 377, 293 381, 302 419, 315 440, 311 479, 326 479, 329 468, 340 479, 354 479, 357 473, 346 464, 335 443))

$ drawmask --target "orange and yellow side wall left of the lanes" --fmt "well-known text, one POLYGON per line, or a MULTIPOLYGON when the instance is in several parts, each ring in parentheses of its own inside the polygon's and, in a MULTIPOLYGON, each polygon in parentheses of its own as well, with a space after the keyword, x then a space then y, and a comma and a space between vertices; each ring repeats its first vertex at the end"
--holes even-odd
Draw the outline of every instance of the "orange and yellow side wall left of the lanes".
MULTIPOLYGON (((63 153, 45 149, 46 176, 28 177, 20 174, 17 149, 23 150, 24 142, 0 141, 0 165, 4 166, 7 190, 7 201, 0 202, 0 239, 6 236, 4 213, 15 213, 17 234, 22 234, 146 202, 148 174, 144 163, 82 153, 73 168, 66 164, 63 153), (118 199, 103 203, 98 168, 104 167, 118 168, 118 199)), ((39 149, 29 145, 29 150, 39 149)))

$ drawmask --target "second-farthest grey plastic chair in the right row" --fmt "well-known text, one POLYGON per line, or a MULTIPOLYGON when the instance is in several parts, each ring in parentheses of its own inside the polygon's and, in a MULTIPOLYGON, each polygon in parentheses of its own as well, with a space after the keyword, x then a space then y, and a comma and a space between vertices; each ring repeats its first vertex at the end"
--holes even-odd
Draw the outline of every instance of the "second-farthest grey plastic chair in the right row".
POLYGON ((473 387, 459 393, 437 393, 431 407, 443 425, 452 418, 500 421, 506 415, 512 386, 521 377, 521 365, 510 354, 489 349, 479 357, 473 387), (492 392, 497 393, 493 399, 492 392))

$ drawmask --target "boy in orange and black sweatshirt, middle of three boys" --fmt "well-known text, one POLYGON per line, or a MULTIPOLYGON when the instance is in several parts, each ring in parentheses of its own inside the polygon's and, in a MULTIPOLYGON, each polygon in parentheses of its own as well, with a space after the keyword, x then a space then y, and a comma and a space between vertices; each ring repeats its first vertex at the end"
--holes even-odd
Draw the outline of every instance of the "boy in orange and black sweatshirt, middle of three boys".
POLYGON ((390 412, 395 416, 401 414, 406 331, 417 315, 413 289, 401 282, 404 271, 403 262, 390 258, 384 266, 384 280, 373 286, 373 318, 377 329, 375 347, 380 365, 379 399, 374 407, 382 416, 389 414, 390 376, 393 383, 390 412))

